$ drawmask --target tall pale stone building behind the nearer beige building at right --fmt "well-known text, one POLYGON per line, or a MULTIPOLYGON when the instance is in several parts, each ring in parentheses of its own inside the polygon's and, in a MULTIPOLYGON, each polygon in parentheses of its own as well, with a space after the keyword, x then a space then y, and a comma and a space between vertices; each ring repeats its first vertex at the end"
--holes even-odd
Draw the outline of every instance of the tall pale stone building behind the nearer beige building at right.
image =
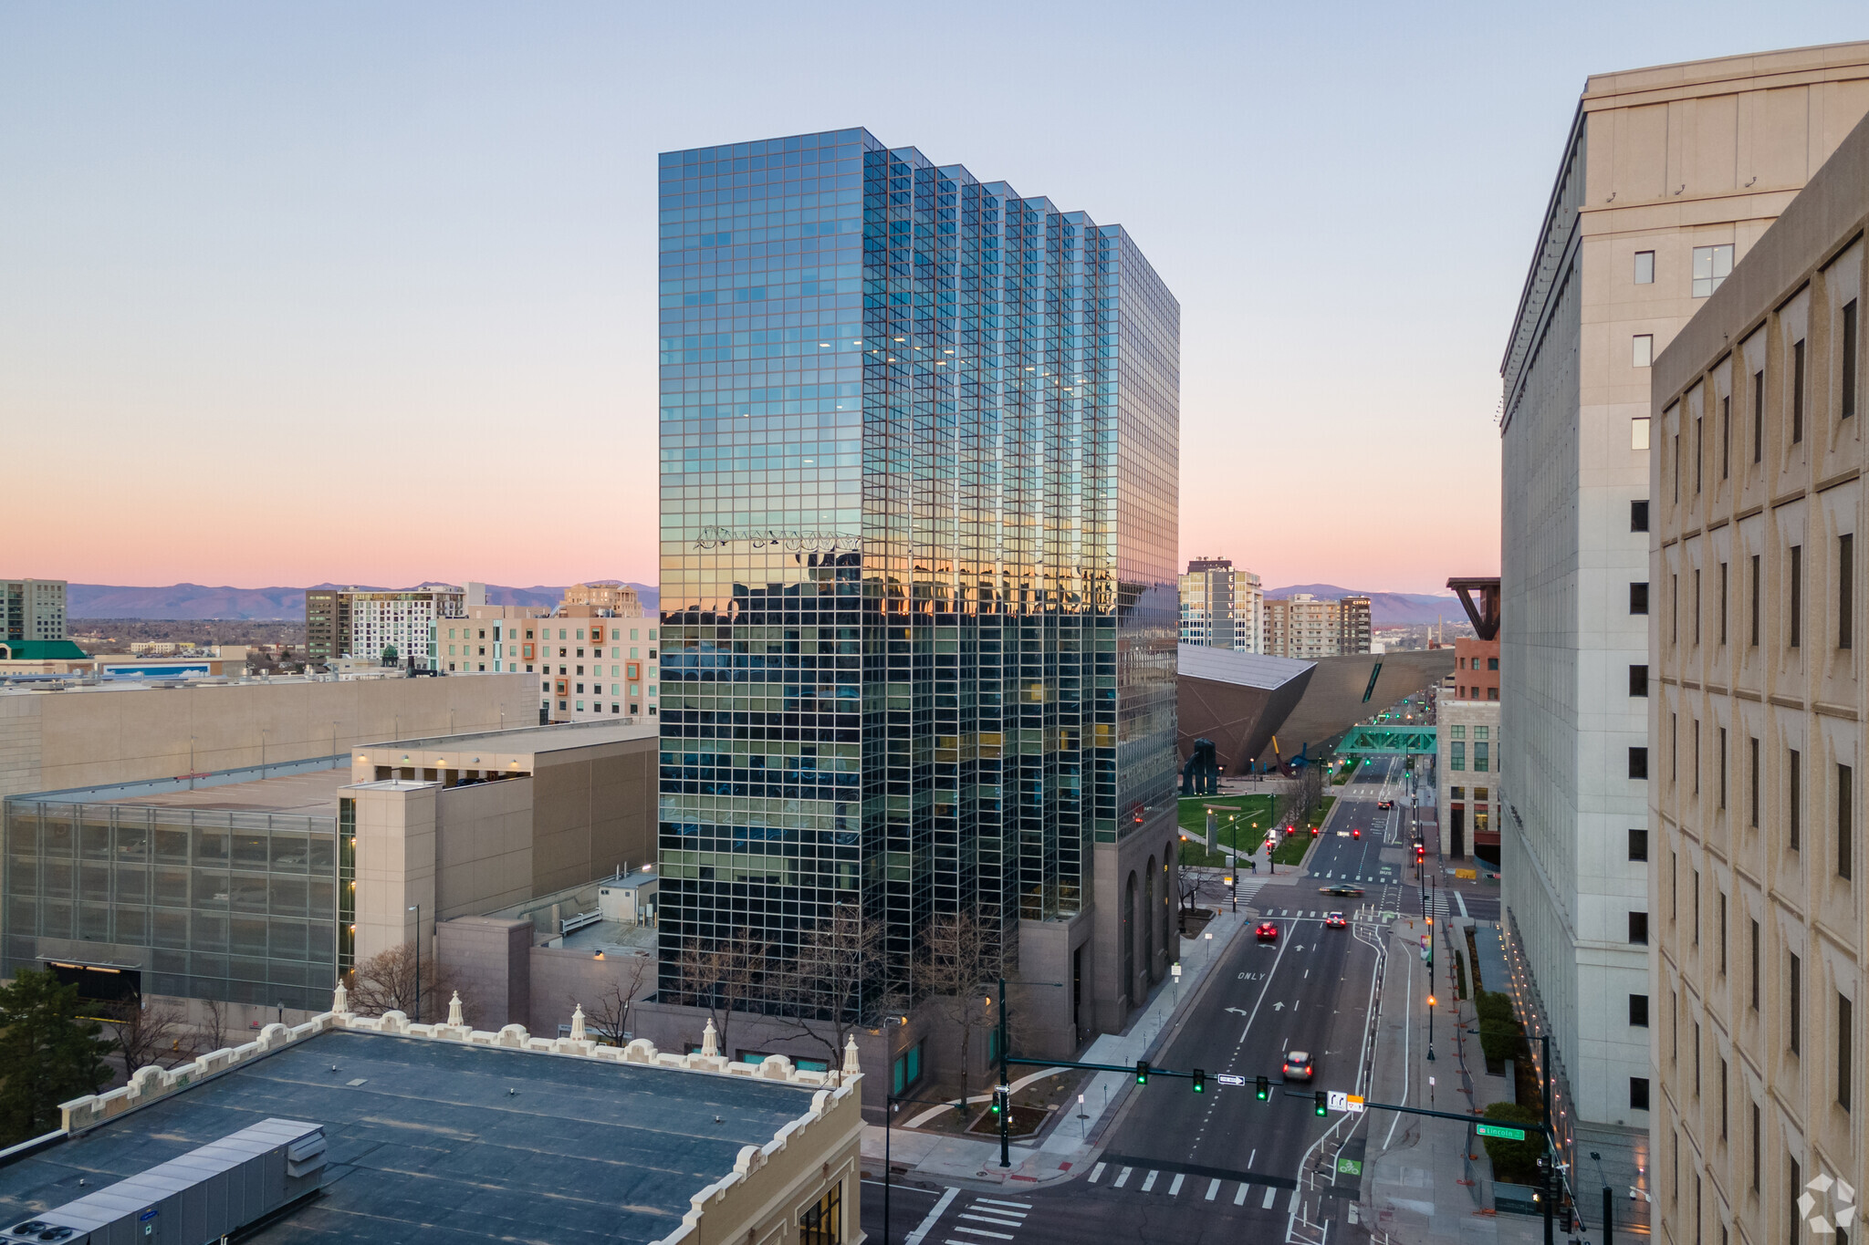
MULTIPOLYGON (((1551 1034, 1566 1157, 1602 1154, 1619 1185, 1660 1172, 1662 1195, 1656 1028, 1634 1000, 1656 989, 1648 926, 1654 896, 1673 894, 1667 862, 1650 875, 1648 788, 1684 754, 1654 756, 1637 678, 1650 609, 1675 607, 1648 567, 1650 364, 1865 108, 1869 43, 1591 77, 1501 360, 1499 825, 1516 997, 1551 1034)), ((1701 747, 1712 756, 1718 739, 1701 747)))

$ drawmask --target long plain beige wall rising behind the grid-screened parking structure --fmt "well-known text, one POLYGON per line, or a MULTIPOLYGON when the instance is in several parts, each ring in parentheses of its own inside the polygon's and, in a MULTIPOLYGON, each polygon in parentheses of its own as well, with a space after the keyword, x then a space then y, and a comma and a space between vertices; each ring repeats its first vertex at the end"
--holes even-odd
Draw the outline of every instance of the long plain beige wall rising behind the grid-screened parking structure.
POLYGON ((538 720, 533 676, 0 694, 0 795, 333 756, 538 720))

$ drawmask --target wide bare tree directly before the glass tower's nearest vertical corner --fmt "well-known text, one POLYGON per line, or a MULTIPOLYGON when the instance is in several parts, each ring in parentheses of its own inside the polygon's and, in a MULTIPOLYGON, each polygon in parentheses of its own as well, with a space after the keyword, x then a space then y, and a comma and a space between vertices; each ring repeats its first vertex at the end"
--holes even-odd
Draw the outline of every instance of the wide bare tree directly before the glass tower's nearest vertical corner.
POLYGON ((882 920, 862 903, 835 903, 800 931, 796 954, 774 982, 776 1019, 796 1036, 822 1042, 837 1068, 850 1034, 899 1006, 871 991, 880 967, 882 920))

